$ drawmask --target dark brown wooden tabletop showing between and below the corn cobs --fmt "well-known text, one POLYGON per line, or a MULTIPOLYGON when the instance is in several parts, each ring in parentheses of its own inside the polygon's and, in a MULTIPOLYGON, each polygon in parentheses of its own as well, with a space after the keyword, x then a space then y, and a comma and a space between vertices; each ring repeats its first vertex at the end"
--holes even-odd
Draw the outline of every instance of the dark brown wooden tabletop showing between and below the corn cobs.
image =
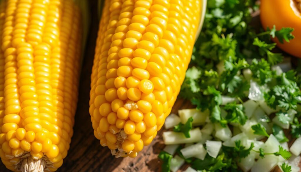
MULTIPOLYGON (((79 87, 79 102, 75 117, 74 135, 64 164, 58 172, 160 172, 161 162, 157 156, 164 148, 162 141, 163 129, 160 130, 151 143, 145 146, 138 156, 132 158, 114 158, 107 147, 102 147, 99 140, 94 137, 92 123, 89 115, 90 74, 94 58, 95 40, 97 37, 97 0, 90 0, 92 26, 90 29, 85 58, 82 66, 81 82, 79 87)), ((193 108, 190 102, 178 99, 172 109, 193 108)), ((184 165, 182 170, 188 166, 184 165)), ((0 172, 7 172, 5 166, 0 164, 0 172)), ((280 171, 279 169, 275 170, 280 171)))

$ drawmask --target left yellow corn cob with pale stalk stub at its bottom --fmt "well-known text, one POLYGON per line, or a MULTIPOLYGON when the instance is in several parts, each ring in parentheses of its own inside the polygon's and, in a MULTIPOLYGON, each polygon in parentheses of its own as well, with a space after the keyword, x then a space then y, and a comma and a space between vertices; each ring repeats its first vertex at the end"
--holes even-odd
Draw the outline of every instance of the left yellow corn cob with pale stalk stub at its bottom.
POLYGON ((55 171, 73 135, 81 56, 73 0, 0 1, 0 157, 55 171))

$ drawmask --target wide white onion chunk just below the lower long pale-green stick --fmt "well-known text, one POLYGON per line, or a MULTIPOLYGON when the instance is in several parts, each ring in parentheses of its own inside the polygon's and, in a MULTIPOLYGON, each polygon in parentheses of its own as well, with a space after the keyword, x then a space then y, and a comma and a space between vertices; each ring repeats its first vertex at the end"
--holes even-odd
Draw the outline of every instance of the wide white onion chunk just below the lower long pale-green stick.
POLYGON ((206 149, 201 143, 187 146, 180 151, 185 158, 191 158, 198 155, 201 160, 204 160, 207 154, 206 149))

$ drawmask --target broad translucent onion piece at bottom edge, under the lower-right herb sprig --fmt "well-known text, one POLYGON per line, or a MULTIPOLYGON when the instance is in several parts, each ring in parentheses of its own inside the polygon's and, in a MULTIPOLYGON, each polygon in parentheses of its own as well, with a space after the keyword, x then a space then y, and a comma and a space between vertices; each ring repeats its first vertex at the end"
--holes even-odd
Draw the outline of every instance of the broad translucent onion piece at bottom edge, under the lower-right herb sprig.
POLYGON ((259 158, 251 168, 251 172, 269 172, 276 167, 278 157, 275 155, 265 155, 265 158, 259 158))

